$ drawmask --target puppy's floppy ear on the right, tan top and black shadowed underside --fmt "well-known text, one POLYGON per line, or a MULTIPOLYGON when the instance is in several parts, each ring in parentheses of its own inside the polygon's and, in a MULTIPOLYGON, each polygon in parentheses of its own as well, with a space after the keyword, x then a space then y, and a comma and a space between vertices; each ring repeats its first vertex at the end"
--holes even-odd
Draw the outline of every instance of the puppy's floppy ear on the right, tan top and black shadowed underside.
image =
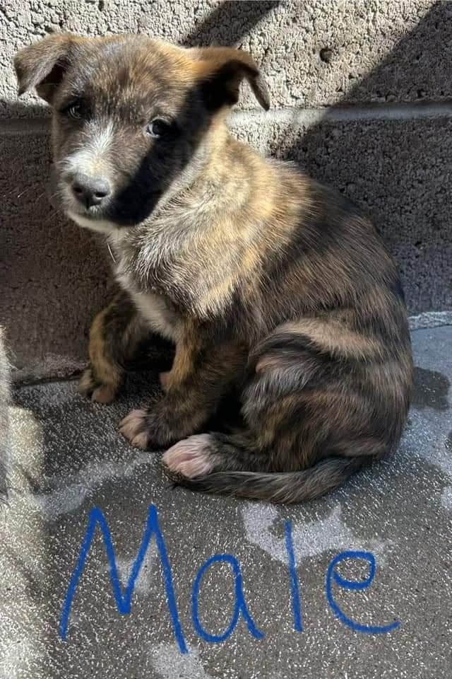
POLYGON ((261 72, 251 55, 233 47, 206 47, 194 50, 203 62, 205 75, 203 90, 208 105, 212 108, 239 100, 240 83, 245 78, 254 92, 258 103, 266 111, 270 108, 270 95, 261 72))

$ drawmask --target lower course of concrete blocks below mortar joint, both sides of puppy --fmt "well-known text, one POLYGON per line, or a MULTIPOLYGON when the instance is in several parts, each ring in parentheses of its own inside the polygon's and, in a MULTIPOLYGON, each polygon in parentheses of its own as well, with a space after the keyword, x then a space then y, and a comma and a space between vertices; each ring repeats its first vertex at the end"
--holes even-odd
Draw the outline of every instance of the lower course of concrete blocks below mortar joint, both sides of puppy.
MULTIPOLYGON (((452 308, 452 116, 241 113, 232 129, 263 153, 295 158, 371 214, 398 262, 410 313, 452 308)), ((0 136, 0 322, 20 378, 80 368, 90 322, 110 294, 102 238, 49 205, 48 146, 44 132, 0 136), (20 153, 25 166, 15 162, 20 153)))

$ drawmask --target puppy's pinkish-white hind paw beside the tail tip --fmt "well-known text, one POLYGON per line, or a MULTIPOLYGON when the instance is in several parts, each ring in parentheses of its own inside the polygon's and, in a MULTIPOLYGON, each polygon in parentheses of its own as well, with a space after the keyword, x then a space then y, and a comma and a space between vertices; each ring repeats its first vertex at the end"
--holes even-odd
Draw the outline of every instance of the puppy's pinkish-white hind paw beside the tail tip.
POLYGON ((215 466, 212 454, 212 436, 198 434, 179 441, 168 448, 163 455, 163 464, 174 475, 182 475, 189 479, 209 474, 215 466))

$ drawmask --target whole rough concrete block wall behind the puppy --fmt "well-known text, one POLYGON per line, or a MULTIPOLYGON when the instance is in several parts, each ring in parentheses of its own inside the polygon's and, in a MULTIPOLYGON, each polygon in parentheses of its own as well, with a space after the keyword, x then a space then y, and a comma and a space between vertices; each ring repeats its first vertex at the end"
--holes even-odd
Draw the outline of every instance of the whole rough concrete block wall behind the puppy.
POLYGON ((48 112, 16 99, 14 52, 58 30, 233 44, 261 63, 232 127, 362 204, 412 313, 452 308, 452 2, 6 0, 0 6, 0 323, 22 375, 76 369, 109 292, 105 253, 49 207, 48 112))

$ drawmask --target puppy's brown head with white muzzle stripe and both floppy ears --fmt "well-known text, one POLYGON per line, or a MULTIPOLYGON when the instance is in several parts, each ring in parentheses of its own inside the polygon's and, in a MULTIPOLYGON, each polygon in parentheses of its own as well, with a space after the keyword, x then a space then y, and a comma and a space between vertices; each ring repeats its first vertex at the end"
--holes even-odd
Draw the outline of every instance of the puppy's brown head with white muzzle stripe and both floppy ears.
POLYGON ((59 34, 20 50, 14 65, 19 93, 36 88, 54 111, 59 202, 100 231, 138 224, 169 187, 194 178, 208 131, 243 79, 269 106, 254 61, 227 47, 59 34))

